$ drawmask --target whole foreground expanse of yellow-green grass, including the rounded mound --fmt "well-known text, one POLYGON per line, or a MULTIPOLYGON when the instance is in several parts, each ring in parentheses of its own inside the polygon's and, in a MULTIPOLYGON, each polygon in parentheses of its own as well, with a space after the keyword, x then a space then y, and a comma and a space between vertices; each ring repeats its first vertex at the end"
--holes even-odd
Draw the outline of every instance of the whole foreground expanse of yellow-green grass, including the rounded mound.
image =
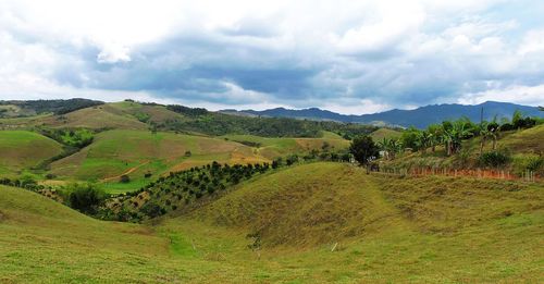
POLYGON ((537 283, 542 188, 312 163, 136 225, 0 187, 0 281, 537 283))

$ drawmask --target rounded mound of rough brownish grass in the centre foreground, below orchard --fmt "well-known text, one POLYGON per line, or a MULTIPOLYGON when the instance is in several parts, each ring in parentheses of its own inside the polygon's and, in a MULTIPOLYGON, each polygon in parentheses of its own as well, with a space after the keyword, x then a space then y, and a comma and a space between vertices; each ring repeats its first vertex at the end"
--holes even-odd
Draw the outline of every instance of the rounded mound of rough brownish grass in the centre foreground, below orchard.
POLYGON ((391 211, 375 194, 353 168, 313 163, 246 183, 195 217, 245 227, 264 246, 326 244, 390 222, 391 211))

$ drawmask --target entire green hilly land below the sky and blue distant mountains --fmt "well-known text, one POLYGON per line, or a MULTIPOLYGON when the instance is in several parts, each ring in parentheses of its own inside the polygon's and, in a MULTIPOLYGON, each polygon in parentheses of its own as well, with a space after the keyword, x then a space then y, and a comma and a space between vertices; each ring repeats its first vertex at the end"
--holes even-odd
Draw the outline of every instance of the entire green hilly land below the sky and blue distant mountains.
POLYGON ((544 274, 541 118, 405 129, 48 103, 9 104, 21 109, 0 119, 1 283, 544 274))

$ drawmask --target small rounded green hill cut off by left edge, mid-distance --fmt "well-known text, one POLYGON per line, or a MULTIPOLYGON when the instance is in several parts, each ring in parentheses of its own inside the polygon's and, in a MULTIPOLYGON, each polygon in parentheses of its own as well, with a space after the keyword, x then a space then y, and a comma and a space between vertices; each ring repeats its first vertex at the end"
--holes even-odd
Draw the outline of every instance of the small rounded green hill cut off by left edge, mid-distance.
POLYGON ((0 174, 34 166, 59 155, 62 145, 26 131, 0 131, 0 174))

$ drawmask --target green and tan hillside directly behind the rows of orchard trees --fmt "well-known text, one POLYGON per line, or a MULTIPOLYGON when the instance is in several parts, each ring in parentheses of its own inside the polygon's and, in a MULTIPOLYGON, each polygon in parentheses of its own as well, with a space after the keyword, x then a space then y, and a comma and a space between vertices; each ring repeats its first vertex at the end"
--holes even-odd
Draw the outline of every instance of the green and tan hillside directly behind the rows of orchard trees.
POLYGON ((145 173, 154 176, 212 161, 267 161, 249 147, 224 139, 149 131, 108 131, 82 151, 51 164, 51 172, 76 180, 119 183, 127 174, 135 184, 119 185, 137 189, 145 173), (190 152, 190 155, 188 153, 190 152))

